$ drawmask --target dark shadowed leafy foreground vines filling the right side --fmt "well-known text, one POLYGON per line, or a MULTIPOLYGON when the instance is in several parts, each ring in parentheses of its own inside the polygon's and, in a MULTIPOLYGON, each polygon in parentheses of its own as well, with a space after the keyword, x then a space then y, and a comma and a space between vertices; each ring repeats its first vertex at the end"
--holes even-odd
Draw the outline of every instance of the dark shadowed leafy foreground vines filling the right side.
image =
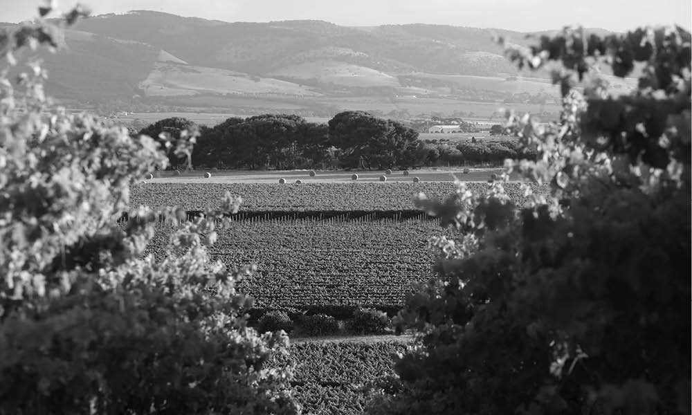
POLYGON ((560 122, 508 119, 536 151, 508 173, 552 192, 525 207, 502 181, 484 197, 462 183, 444 202, 417 197, 459 237, 431 241, 437 275, 396 319, 417 343, 367 412, 689 414, 690 33, 565 29, 505 46, 519 68, 563 66, 560 122), (645 64, 632 95, 592 77, 604 58, 619 77, 645 64))

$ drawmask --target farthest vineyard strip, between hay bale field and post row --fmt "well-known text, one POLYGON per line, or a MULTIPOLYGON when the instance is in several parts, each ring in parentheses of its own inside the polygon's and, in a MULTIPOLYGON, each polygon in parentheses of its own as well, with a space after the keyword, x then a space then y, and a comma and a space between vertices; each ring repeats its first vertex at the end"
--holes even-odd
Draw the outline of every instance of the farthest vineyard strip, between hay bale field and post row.
MULTIPOLYGON (((468 189, 486 192, 488 183, 468 182, 468 189)), ((505 190, 522 203, 520 182, 509 182, 505 190)), ((538 186, 533 186, 538 190, 538 186)), ((241 196, 241 212, 379 212, 412 210, 412 196, 424 192, 430 199, 445 199, 455 192, 448 182, 394 183, 145 183, 131 190, 130 206, 162 208, 174 205, 185 210, 216 208, 228 191, 241 196)))

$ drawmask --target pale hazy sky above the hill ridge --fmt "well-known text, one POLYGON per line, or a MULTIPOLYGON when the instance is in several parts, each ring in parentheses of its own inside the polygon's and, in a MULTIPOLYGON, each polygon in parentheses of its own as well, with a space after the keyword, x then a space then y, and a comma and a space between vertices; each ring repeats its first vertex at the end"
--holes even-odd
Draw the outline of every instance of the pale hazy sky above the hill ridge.
MULTIPOLYGON (((35 16, 40 0, 0 0, 0 21, 35 16)), ((64 10, 75 1, 62 0, 64 10)), ((224 21, 320 19, 348 26, 429 23, 531 31, 581 24, 625 31, 645 24, 690 30, 691 0, 82 0, 93 14, 158 10, 224 21)))

